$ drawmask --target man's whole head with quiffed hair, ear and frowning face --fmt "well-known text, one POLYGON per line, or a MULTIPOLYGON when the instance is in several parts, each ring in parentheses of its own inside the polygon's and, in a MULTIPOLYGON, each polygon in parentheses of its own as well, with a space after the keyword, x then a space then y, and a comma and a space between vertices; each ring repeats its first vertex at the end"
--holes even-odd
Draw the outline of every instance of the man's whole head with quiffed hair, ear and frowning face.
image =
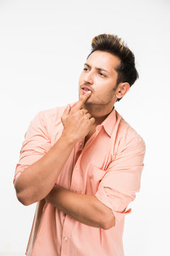
POLYGON ((89 89, 92 93, 86 106, 109 110, 138 78, 135 57, 118 36, 95 36, 91 46, 79 78, 79 96, 89 89))

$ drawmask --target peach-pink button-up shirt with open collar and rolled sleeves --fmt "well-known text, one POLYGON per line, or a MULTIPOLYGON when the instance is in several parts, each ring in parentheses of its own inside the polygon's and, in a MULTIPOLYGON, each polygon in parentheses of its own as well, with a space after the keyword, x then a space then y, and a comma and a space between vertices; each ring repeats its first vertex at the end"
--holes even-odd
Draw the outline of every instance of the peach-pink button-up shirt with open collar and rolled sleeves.
MULTIPOLYGON (((64 109, 40 111, 30 122, 13 182, 60 138, 64 109)), ((85 146, 84 139, 74 146, 56 183, 74 193, 96 196, 113 211, 115 226, 103 230, 79 223, 43 199, 37 203, 26 255, 123 256, 125 215, 140 191, 144 156, 144 140, 113 108, 85 146)))

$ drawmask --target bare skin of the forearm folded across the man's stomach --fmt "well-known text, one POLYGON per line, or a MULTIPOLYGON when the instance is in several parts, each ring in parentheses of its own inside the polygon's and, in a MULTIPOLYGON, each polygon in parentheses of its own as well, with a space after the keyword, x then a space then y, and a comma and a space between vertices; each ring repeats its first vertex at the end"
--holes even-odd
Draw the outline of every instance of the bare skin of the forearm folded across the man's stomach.
POLYGON ((45 199, 58 210, 91 227, 107 230, 115 225, 111 209, 101 203, 96 196, 73 193, 55 186, 45 199))

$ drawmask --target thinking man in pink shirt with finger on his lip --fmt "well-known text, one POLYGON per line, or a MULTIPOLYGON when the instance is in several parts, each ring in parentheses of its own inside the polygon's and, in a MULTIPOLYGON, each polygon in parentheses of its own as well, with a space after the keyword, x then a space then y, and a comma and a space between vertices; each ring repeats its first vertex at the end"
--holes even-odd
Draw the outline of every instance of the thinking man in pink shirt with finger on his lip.
POLYGON ((123 256, 128 204, 140 191, 145 142, 115 110, 138 78, 118 38, 96 36, 79 101, 39 112, 16 165, 18 200, 37 203, 28 256, 123 256))

